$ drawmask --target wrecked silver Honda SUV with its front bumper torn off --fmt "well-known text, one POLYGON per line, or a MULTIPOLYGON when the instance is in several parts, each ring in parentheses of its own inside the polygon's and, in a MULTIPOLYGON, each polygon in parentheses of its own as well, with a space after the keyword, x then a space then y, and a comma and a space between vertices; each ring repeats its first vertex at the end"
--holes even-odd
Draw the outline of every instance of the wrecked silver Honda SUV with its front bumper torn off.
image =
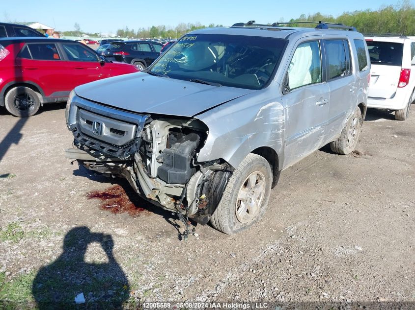
POLYGON ((264 215, 281 170, 327 143, 355 149, 368 59, 341 24, 196 30, 143 72, 72 91, 66 156, 126 178, 186 228, 193 218, 237 233, 264 215))

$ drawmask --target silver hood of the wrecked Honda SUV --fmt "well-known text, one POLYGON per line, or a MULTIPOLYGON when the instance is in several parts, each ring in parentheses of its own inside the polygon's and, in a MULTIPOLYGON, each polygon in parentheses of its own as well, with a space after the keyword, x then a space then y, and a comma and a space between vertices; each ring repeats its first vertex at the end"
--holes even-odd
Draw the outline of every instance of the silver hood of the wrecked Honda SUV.
POLYGON ((217 87, 144 72, 110 77, 75 88, 85 99, 149 114, 192 117, 254 90, 217 87))

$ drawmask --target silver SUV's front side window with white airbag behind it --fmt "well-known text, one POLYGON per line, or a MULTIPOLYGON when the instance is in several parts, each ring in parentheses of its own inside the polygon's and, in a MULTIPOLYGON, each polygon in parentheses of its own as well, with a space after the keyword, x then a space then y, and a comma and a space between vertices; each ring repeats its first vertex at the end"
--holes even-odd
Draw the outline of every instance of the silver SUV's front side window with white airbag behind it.
POLYGON ((288 87, 293 90, 321 82, 321 56, 318 41, 300 44, 288 67, 288 87))

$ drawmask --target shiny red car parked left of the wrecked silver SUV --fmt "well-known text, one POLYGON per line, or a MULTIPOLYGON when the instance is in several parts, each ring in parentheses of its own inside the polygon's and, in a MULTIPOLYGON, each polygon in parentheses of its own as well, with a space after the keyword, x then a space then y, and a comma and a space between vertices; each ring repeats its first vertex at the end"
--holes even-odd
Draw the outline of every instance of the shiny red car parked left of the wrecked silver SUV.
POLYGON ((0 106, 17 117, 32 116, 44 103, 65 101, 78 85, 137 71, 76 41, 1 38, 0 106))

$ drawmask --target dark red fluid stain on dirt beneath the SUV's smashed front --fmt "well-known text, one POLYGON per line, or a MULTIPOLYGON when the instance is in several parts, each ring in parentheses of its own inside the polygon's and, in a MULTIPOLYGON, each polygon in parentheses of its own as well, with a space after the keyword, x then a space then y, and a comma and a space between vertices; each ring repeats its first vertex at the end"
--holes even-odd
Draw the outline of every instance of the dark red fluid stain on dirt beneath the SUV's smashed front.
MULTIPOLYGON (((135 192, 129 192, 129 194, 133 197, 137 195, 135 192)), ((138 201, 132 202, 127 192, 119 185, 112 186, 103 191, 91 191, 86 194, 86 197, 88 199, 101 200, 100 208, 114 214, 126 212, 129 215, 138 216, 148 212, 146 209, 137 206, 138 201)))

